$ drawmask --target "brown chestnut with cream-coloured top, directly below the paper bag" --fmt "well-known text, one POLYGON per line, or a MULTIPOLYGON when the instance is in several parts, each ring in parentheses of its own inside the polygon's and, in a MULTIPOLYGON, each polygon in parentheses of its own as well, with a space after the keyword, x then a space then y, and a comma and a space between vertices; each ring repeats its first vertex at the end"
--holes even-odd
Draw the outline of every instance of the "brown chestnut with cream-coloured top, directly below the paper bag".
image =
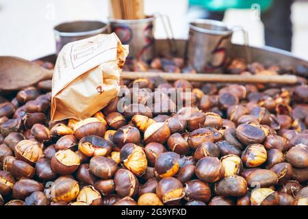
POLYGON ((81 140, 85 136, 104 137, 106 125, 97 118, 86 118, 79 121, 74 126, 74 136, 81 140))

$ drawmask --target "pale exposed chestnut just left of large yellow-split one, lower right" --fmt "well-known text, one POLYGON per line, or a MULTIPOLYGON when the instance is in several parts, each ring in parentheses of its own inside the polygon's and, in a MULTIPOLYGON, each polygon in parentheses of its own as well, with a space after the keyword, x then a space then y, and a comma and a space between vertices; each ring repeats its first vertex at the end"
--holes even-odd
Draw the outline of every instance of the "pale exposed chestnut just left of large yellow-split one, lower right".
POLYGON ((224 177, 240 175, 243 170, 242 160, 238 155, 225 155, 220 158, 224 168, 224 177))

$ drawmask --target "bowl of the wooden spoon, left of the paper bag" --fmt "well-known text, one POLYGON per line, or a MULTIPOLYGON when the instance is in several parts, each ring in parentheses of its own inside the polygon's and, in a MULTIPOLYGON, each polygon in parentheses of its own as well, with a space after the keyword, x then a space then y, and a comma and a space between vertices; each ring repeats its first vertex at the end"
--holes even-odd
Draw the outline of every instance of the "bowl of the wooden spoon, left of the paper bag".
POLYGON ((19 57, 0 56, 0 90, 21 90, 52 77, 53 70, 34 62, 19 57))

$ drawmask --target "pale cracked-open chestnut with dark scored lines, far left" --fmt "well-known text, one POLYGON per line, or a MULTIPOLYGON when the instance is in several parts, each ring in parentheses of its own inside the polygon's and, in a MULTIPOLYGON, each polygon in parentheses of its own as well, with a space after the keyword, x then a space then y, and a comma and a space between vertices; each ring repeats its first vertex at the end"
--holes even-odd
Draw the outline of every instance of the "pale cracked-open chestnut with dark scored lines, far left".
POLYGON ((43 151, 38 142, 32 140, 22 140, 18 142, 14 151, 16 158, 31 165, 34 165, 43 155, 43 151))

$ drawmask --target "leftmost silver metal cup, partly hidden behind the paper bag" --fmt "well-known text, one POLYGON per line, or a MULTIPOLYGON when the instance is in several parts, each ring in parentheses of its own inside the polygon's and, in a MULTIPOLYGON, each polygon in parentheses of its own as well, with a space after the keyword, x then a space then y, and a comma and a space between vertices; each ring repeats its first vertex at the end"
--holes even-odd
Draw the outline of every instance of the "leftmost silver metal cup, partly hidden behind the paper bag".
POLYGON ((108 25, 101 21, 74 21, 61 23, 53 28, 56 55, 68 42, 82 40, 97 34, 107 34, 108 25))

